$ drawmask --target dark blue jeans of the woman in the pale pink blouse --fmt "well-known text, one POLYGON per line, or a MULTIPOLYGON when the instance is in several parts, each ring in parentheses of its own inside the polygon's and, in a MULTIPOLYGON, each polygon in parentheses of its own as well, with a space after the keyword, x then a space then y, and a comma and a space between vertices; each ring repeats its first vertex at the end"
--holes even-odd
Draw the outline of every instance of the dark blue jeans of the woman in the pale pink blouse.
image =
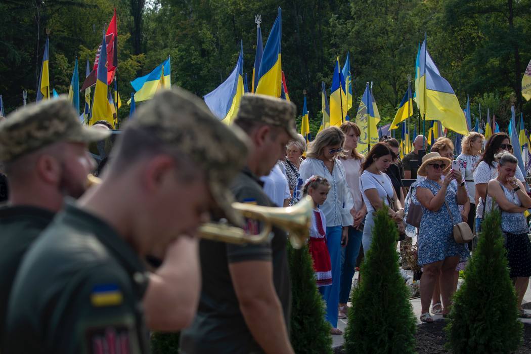
POLYGON ((352 226, 348 227, 348 243, 346 247, 341 248, 341 281, 339 283, 340 304, 346 304, 348 301, 359 248, 362 245, 362 238, 363 230, 356 230, 352 226))

